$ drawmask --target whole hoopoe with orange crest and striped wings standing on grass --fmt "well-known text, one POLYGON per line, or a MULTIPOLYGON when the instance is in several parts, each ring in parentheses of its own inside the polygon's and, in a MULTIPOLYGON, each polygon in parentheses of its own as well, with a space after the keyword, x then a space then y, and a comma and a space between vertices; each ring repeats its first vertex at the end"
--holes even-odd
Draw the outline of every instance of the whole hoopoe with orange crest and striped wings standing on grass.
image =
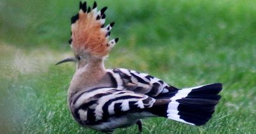
POLYGON ((70 47, 74 50, 68 61, 77 68, 68 89, 68 107, 74 119, 88 128, 111 133, 115 128, 138 124, 147 117, 166 117, 195 126, 211 119, 220 101, 220 83, 178 89, 146 73, 124 68, 106 69, 104 59, 118 38, 109 40, 114 22, 104 26, 105 11, 86 2, 71 19, 70 47))

